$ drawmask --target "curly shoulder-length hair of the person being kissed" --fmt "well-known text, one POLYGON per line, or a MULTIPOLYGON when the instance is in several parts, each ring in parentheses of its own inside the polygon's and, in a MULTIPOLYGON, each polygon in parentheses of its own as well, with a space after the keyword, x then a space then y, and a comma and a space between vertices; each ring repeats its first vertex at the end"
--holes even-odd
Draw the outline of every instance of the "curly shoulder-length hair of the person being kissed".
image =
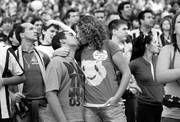
POLYGON ((105 27, 95 17, 84 15, 77 22, 80 37, 92 44, 96 50, 101 50, 103 41, 107 39, 105 27))

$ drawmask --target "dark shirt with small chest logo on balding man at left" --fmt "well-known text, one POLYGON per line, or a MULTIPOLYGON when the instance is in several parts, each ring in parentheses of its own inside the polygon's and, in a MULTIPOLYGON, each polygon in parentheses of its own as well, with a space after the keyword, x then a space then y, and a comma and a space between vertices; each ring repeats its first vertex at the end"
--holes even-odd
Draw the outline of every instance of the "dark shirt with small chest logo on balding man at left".
MULTIPOLYGON (((49 63, 49 57, 43 54, 45 66, 49 63)), ((34 98, 45 95, 44 81, 34 51, 27 53, 23 51, 23 62, 26 80, 23 85, 23 94, 26 97, 34 98)))

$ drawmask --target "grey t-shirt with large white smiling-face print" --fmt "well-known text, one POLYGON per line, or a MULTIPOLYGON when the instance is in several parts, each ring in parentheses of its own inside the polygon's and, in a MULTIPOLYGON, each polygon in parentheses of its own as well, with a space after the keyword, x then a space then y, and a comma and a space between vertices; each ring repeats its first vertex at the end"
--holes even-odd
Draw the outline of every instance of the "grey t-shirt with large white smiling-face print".
POLYGON ((112 56, 118 51, 118 45, 108 40, 104 41, 101 51, 88 47, 82 51, 81 69, 86 77, 86 103, 104 104, 117 92, 118 83, 112 56))

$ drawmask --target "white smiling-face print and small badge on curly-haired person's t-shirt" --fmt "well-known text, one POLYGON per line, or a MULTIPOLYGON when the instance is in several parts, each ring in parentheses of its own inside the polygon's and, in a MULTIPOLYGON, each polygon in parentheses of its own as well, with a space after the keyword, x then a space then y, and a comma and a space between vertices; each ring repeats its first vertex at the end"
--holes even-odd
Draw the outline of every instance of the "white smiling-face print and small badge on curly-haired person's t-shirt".
POLYGON ((103 61, 108 57, 107 51, 94 51, 93 58, 95 60, 83 60, 81 62, 82 70, 90 86, 98 86, 106 77, 107 71, 103 66, 103 61))

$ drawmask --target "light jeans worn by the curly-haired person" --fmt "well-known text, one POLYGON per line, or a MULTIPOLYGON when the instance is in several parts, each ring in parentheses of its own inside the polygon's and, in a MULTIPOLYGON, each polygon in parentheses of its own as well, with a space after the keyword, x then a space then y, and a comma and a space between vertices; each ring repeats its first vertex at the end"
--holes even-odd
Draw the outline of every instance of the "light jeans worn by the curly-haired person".
POLYGON ((124 105, 85 107, 85 122, 127 122, 124 105))

